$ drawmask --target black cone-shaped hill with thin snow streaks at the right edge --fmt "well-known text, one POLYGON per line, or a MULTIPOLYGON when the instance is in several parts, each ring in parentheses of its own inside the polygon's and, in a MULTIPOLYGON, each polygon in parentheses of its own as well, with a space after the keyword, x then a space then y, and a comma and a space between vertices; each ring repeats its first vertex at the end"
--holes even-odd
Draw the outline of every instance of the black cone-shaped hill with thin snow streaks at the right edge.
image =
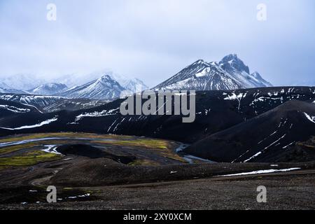
POLYGON ((276 162, 290 146, 314 135, 315 105, 293 100, 197 141, 185 152, 218 162, 276 162))

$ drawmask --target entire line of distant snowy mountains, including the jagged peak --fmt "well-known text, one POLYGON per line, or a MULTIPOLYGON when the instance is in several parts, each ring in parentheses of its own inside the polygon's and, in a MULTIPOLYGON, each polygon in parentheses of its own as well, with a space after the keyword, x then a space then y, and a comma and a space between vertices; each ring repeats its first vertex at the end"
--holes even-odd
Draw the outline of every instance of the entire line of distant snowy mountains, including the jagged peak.
MULTIPOLYGON (((69 99, 93 99, 111 101, 117 99, 121 92, 140 92, 148 90, 148 86, 138 78, 126 78, 116 73, 107 72, 99 77, 99 73, 92 73, 94 78, 89 82, 70 86, 64 83, 41 83, 31 76, 19 75, 17 77, 3 78, 0 83, 0 93, 38 94, 61 96, 69 99), (41 83, 41 85, 36 85, 41 83), (31 87, 34 86, 35 87, 31 87), (27 88, 31 87, 31 88, 27 88), (25 89, 27 88, 27 89, 25 89)), ((76 77, 64 77, 66 83, 74 83, 76 77)), ((78 78, 87 80, 87 77, 78 78)), ((250 69, 237 55, 227 55, 220 62, 205 62, 200 59, 176 75, 153 87, 153 90, 239 90, 254 87, 272 87, 272 84, 260 76, 257 71, 251 73, 250 69)))

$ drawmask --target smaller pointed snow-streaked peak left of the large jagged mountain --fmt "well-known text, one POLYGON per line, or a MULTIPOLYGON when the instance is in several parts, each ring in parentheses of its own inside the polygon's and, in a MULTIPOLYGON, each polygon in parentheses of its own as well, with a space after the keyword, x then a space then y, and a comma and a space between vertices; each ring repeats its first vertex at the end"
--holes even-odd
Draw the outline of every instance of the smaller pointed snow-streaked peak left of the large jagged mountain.
POLYGON ((90 83, 71 87, 59 95, 69 98, 112 100, 119 98, 120 93, 124 90, 125 88, 111 76, 105 75, 90 83))

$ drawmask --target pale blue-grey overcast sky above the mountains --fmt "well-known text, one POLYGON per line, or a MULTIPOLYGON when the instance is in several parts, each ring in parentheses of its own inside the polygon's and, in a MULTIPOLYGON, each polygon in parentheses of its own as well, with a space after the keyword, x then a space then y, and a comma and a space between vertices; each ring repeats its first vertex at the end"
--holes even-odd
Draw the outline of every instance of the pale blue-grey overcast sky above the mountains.
POLYGON ((0 78, 106 69, 153 86, 237 53, 274 85, 315 85, 314 17, 314 0, 0 0, 0 78))

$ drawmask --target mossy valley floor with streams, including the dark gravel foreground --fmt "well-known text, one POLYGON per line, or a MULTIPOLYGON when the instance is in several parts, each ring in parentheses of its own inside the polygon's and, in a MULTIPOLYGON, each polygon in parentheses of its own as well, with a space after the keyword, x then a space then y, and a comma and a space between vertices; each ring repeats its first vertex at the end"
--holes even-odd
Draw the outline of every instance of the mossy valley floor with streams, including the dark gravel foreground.
POLYGON ((191 164, 179 146, 70 132, 2 138, 0 209, 315 209, 315 162, 191 164))

